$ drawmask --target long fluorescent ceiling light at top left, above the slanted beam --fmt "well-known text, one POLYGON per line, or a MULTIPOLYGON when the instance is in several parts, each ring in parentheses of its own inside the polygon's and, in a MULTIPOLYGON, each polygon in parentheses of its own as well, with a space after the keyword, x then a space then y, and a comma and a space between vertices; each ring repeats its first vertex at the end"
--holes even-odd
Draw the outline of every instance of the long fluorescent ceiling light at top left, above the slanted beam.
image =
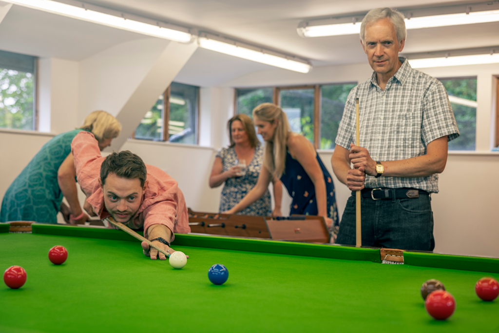
POLYGON ((88 22, 98 23, 102 25, 142 33, 149 36, 171 39, 180 42, 190 42, 192 35, 187 32, 160 27, 143 23, 124 17, 105 14, 99 11, 85 9, 57 1, 51 0, 3 0, 6 2, 18 4, 24 7, 39 9, 50 13, 55 13, 67 17, 77 18, 88 22))

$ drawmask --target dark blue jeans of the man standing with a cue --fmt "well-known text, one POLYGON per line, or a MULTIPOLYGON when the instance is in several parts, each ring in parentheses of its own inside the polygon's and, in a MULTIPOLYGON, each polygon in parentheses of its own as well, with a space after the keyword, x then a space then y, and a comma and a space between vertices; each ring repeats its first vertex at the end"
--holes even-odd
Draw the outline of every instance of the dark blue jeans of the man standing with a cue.
MULTIPOLYGON (((373 200, 361 197, 362 246, 433 251, 431 198, 373 200)), ((336 244, 355 245, 355 193, 346 203, 336 244)))

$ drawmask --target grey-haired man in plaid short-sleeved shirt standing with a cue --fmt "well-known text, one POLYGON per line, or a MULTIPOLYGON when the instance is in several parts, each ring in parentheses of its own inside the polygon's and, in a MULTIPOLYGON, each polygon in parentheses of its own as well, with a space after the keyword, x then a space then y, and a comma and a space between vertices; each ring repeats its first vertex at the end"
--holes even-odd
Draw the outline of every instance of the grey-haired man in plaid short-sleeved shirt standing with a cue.
POLYGON ((360 39, 374 72, 348 95, 331 158, 336 177, 353 191, 336 243, 355 244, 354 191, 361 190, 362 245, 432 251, 430 193, 438 192, 448 141, 459 136, 449 97, 439 80, 398 56, 406 39, 402 13, 369 11, 360 39))

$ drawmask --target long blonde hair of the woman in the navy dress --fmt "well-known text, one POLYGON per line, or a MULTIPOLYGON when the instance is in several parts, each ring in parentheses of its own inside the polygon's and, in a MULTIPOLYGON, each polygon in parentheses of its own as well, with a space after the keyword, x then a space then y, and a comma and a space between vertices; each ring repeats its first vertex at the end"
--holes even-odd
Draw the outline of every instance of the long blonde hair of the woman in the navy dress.
POLYGON ((273 123, 277 120, 273 137, 265 143, 263 166, 274 177, 280 178, 286 168, 286 141, 291 133, 287 116, 272 103, 262 103, 253 109, 253 119, 273 123))

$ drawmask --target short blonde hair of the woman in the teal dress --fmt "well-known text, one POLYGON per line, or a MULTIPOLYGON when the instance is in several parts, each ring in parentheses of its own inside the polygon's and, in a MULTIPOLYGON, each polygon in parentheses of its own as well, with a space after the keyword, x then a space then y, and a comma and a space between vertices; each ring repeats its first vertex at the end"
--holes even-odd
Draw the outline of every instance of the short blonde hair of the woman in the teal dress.
POLYGON ((80 128, 92 132, 99 142, 109 138, 116 138, 121 132, 119 121, 106 111, 90 113, 80 128))

